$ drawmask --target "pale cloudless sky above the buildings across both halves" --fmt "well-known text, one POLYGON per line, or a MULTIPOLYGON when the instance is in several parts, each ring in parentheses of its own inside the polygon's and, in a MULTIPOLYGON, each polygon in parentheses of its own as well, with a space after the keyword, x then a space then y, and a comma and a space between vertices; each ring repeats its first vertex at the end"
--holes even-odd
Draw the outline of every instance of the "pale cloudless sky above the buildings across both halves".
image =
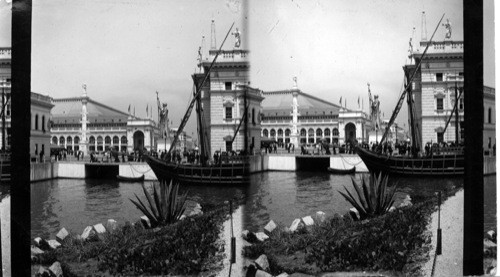
MULTIPOLYGON (((368 111, 367 83, 388 118, 407 62, 408 42, 421 39, 422 11, 430 38, 440 17, 463 40, 461 1, 370 0, 33 0, 32 91, 76 97, 82 84, 92 99, 124 112, 156 111, 156 91, 174 126, 192 93, 198 47, 216 22, 217 44, 232 22, 250 49, 251 84, 264 91, 299 88, 335 104, 340 97, 368 111), (413 28, 415 32, 413 33, 413 28), (151 108, 149 108, 151 110, 151 108)), ((0 0, 0 47, 10 46, 10 3, 0 0)), ((495 87, 493 0, 485 10, 485 85, 495 87)), ((443 40, 439 26, 434 40, 443 40)), ((231 48, 233 38, 226 42, 231 48)), ((422 51, 422 49, 421 49, 422 51)), ((155 112, 156 114, 156 112, 155 112)), ((195 131, 194 120, 187 127, 195 131)), ((406 110, 397 120, 406 122, 406 110)))

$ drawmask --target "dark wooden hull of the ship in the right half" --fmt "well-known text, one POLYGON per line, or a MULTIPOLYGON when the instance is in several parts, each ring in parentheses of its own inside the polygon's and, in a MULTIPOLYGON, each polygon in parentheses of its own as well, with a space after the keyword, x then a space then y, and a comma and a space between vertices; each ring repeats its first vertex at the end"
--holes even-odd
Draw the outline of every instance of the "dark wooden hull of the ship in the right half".
POLYGON ((444 153, 432 157, 412 158, 386 156, 356 147, 356 153, 371 172, 386 172, 405 177, 461 176, 464 174, 463 153, 444 153))

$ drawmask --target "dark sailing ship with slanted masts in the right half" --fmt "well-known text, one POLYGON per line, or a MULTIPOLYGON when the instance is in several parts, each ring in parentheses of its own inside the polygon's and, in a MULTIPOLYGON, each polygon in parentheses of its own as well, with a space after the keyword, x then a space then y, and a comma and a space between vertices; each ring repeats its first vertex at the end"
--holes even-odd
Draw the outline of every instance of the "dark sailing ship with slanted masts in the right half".
MULTIPOLYGON (((444 15, 443 15, 444 17, 444 15)), ((439 24, 443 20, 438 23, 439 24)), ((384 135, 380 141, 380 144, 375 149, 375 151, 370 151, 363 147, 356 147, 356 153, 360 156, 360 158, 365 163, 366 167, 372 172, 386 172, 391 175, 400 175, 405 177, 421 177, 421 176, 460 176, 464 174, 464 150, 463 147, 458 146, 458 137, 456 138, 455 147, 446 147, 446 148, 431 148, 428 153, 421 153, 422 147, 420 146, 420 142, 418 140, 419 128, 416 123, 416 114, 415 107, 413 101, 413 92, 412 92, 412 81, 417 72, 421 69, 421 63, 423 57, 427 53, 429 46, 432 44, 432 38, 434 37, 434 33, 427 43, 427 46, 422 54, 421 59, 418 61, 416 66, 406 66, 405 67, 405 88, 403 93, 401 94, 399 101, 392 113, 392 116, 389 120, 388 125, 386 126, 384 135), (387 138, 387 134, 390 130, 391 125, 394 123, 396 116, 398 115, 401 107, 403 105, 404 100, 407 100, 408 103, 408 120, 410 126, 410 134, 411 134, 411 150, 409 151, 408 156, 390 156, 382 153, 382 145, 387 138)), ((455 94, 457 86, 455 85, 455 94)), ((463 91, 460 92, 460 96, 463 91)), ((460 96, 458 96, 459 99, 460 96)), ((452 118, 453 114, 458 117, 458 100, 455 101, 455 105, 453 111, 448 119, 446 126, 444 128, 444 132, 452 118)), ((458 124, 458 118, 455 120, 455 123, 458 124)), ((458 130, 458 126, 456 126, 458 130)), ((443 133, 444 133, 443 132, 443 133)))

